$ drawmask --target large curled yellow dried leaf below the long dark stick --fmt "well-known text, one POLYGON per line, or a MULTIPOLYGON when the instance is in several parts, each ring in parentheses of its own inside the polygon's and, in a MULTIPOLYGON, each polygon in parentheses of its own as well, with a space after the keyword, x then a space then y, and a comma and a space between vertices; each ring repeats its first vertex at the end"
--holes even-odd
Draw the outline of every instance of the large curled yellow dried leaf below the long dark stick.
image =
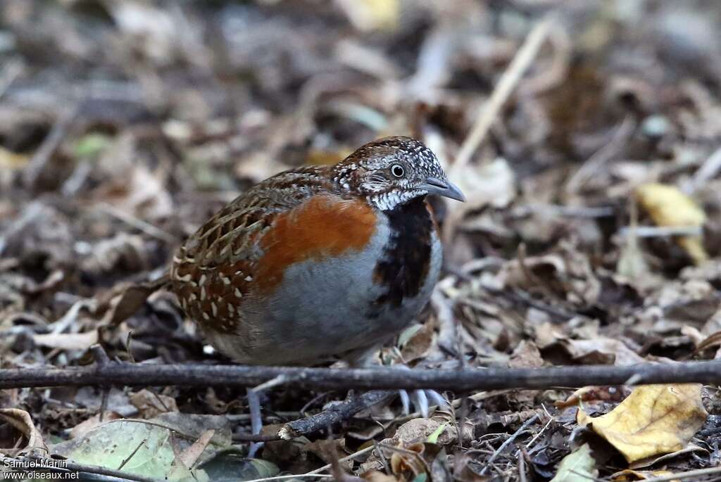
POLYGON ((608 414, 596 418, 579 410, 579 424, 588 424, 629 463, 681 450, 708 416, 697 383, 645 385, 608 414))

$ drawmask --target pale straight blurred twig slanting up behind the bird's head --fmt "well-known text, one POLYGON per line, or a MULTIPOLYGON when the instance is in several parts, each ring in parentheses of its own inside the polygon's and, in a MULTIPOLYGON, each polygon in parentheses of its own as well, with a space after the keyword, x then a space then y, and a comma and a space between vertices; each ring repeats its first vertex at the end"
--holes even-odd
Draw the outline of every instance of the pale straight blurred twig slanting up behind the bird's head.
POLYGON ((473 153, 485 139, 488 130, 490 130, 491 125, 493 125, 493 122, 498 116, 500 108, 503 107, 505 101, 508 100, 518 81, 521 80, 521 76, 523 76, 523 73, 526 72, 528 66, 531 65, 531 62, 534 61, 534 58, 536 58, 536 55, 539 53, 541 45, 543 45, 544 40, 546 40, 551 24, 552 21, 550 18, 541 20, 541 22, 536 24, 534 30, 531 30, 528 34, 521 48, 518 49, 516 56, 513 57, 513 61, 510 62, 503 76, 501 76, 488 102, 486 102, 484 108, 479 112, 471 132, 463 141, 458 156, 456 156, 456 161, 451 168, 451 177, 453 177, 453 174, 458 174, 461 169, 468 164, 473 153))

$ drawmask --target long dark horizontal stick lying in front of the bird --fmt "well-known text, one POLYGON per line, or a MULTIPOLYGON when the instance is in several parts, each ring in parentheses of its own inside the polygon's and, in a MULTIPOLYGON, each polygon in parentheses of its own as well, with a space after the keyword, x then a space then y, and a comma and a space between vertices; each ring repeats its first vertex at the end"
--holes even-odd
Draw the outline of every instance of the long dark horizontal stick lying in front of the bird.
POLYGON ((0 389, 84 385, 256 386, 283 377, 288 385, 319 390, 348 388, 397 390, 495 390, 500 388, 580 387, 634 383, 721 385, 721 361, 642 363, 625 367, 586 365, 551 368, 466 368, 390 370, 387 368, 249 367, 243 365, 143 365, 110 362, 78 368, 0 370, 0 389))

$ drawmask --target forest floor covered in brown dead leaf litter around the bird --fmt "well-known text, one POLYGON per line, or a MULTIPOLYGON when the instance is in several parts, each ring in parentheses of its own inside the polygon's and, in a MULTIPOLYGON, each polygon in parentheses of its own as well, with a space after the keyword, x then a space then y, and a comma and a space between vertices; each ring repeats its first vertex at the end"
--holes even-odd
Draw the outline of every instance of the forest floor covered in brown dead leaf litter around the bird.
MULTIPOLYGON (((120 287, 161 277, 255 182, 384 135, 423 140, 468 198, 434 200, 443 275, 386 364, 720 359, 720 25, 713 1, 4 0, 0 368, 86 366, 96 344, 228 363, 171 293, 133 313, 120 287)), ((265 390, 265 429, 347 395, 265 390)), ((249 459, 243 388, 12 388, 0 452, 116 471, 97 481, 247 481, 353 454, 322 474, 720 480, 717 386, 445 395, 249 459)))

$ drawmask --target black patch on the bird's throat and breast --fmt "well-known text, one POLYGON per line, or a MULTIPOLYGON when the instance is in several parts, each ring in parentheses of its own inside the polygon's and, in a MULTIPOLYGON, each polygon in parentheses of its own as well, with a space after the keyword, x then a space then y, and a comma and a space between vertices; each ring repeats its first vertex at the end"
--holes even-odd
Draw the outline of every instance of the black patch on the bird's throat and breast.
POLYGON ((384 249, 384 257, 373 271, 373 280, 386 292, 376 299, 371 316, 379 316, 382 305, 400 306, 403 298, 420 293, 430 267, 431 233, 435 229, 425 199, 410 202, 384 211, 388 216, 391 236, 384 249))

